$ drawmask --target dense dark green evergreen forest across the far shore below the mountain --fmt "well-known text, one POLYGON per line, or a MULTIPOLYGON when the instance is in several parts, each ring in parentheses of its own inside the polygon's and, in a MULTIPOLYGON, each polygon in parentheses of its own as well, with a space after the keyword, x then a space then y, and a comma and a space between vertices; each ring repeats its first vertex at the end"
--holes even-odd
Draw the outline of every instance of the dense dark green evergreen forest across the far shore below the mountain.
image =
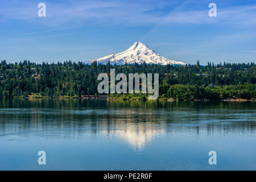
POLYGON ((91 65, 81 62, 42 63, 23 61, 0 64, 0 97, 97 95, 100 73, 159 73, 159 98, 255 98, 256 65, 91 65), (229 86, 226 86, 229 85, 229 86))

